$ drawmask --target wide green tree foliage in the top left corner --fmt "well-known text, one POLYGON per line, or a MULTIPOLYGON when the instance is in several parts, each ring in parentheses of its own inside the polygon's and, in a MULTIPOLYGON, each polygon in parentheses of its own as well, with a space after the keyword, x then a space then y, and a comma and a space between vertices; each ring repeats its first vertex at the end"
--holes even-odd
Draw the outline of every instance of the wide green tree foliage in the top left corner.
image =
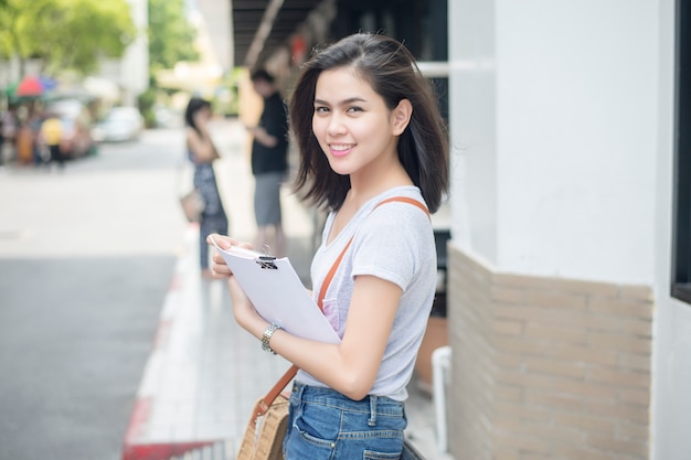
POLYGON ((0 0, 0 53, 40 58, 43 72, 88 73, 136 36, 126 0, 0 0))

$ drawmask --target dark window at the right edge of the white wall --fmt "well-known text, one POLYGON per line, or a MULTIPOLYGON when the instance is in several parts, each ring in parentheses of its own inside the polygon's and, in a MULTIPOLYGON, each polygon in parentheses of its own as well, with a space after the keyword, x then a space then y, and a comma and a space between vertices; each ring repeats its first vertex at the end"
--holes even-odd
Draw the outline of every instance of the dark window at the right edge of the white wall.
POLYGON ((671 295, 691 303, 691 0, 677 0, 671 295))

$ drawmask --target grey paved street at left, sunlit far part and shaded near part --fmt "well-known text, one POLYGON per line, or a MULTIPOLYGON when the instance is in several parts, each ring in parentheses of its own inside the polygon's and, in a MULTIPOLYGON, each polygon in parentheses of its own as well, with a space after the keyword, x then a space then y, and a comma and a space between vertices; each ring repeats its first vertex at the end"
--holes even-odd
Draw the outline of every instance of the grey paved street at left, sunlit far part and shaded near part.
POLYGON ((185 223, 179 131, 0 173, 0 459, 119 459, 185 223))

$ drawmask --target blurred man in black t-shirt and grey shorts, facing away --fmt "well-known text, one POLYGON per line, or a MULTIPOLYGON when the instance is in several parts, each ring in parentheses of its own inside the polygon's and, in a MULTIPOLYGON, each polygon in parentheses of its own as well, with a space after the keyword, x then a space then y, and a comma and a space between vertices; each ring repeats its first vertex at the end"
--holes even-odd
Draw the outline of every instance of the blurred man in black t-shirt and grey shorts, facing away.
POLYGON ((264 109, 256 127, 247 127, 252 142, 252 173, 255 180, 254 214, 257 224, 255 246, 268 246, 273 255, 284 256, 280 185, 288 170, 288 116, 274 77, 261 68, 249 78, 254 90, 264 98, 264 109), (273 229, 273 238, 269 232, 273 229), (270 243, 274 243, 273 245, 270 243))

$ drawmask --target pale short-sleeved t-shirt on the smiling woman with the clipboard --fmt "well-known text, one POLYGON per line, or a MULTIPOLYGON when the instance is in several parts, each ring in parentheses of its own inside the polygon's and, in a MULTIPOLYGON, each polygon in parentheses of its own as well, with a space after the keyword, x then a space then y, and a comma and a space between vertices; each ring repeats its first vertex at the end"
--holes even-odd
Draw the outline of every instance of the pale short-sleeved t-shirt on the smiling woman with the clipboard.
MULTIPOLYGON (((365 203, 329 245, 327 237, 336 214, 327 217, 322 244, 311 265, 315 299, 336 258, 354 235, 323 299, 325 314, 339 336, 343 336, 354 278, 371 275, 403 289, 398 310, 384 351, 382 364, 370 394, 392 399, 407 398, 406 385, 413 374, 415 357, 434 301, 437 257, 429 217, 419 207, 389 197, 407 196, 424 204, 416 186, 389 190, 365 203), (376 208, 375 208, 376 207, 376 208)), ((299 371, 296 381, 326 386, 299 371)))

